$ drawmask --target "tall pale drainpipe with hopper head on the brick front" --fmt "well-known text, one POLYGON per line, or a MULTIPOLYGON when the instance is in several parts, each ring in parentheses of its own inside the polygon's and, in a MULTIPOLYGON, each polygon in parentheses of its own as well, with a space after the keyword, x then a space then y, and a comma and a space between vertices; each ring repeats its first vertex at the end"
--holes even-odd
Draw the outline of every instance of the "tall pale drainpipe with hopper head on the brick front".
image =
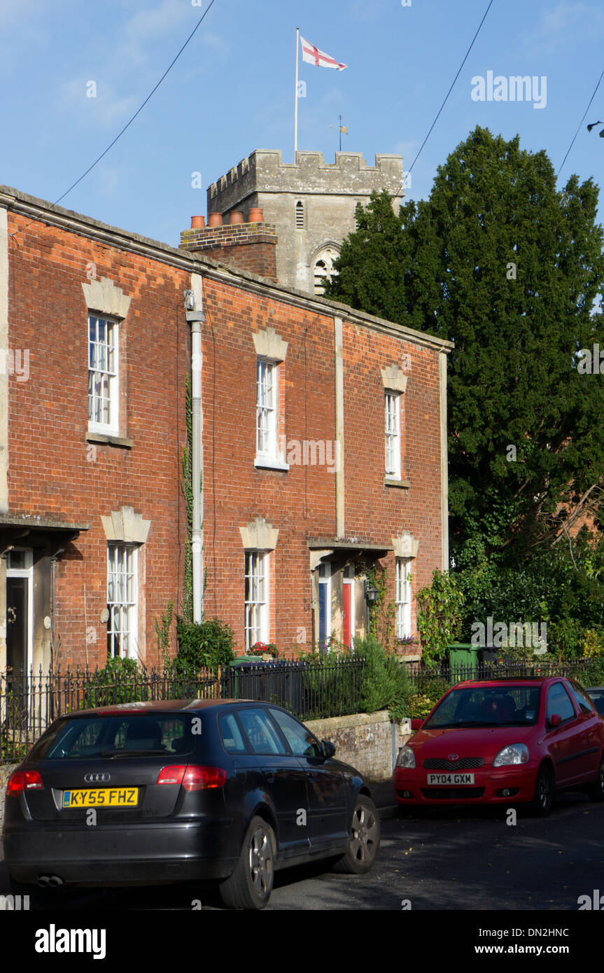
POLYGON ((201 540, 201 323, 205 321, 201 276, 191 275, 191 290, 186 292, 187 320, 191 324, 191 405, 192 405, 192 476, 193 525, 191 549, 193 554, 193 620, 203 616, 203 560, 201 540))

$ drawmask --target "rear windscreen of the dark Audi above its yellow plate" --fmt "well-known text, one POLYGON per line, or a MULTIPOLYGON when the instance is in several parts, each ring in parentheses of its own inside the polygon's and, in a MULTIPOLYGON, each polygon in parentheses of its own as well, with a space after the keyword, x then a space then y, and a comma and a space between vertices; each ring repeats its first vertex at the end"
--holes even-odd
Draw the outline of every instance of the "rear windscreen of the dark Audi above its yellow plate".
MULTIPOLYGON (((198 723, 198 719, 197 719, 198 723)), ((82 716, 58 720, 31 751, 34 760, 190 754, 195 745, 189 714, 82 716)))

